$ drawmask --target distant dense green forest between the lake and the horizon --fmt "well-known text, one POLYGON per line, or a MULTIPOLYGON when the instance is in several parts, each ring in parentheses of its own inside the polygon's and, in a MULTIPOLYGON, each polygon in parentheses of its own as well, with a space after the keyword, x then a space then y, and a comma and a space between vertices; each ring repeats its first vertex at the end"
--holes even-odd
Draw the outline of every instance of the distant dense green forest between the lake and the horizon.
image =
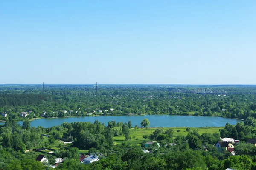
MULTIPOLYGON (((28 118, 36 118, 43 111, 47 112, 44 117, 64 117, 85 116, 98 110, 107 114, 110 108, 114 109, 111 114, 180 114, 238 119, 256 116, 256 98, 251 94, 186 94, 152 85, 100 86, 98 93, 92 85, 52 85, 46 86, 44 91, 38 86, 21 86, 22 90, 15 90, 16 86, 9 87, 12 90, 6 88, 0 86, 0 112, 16 119, 20 112, 29 110, 33 114, 28 118), (72 110, 72 113, 64 113, 65 110, 72 110)), ((251 88, 237 89, 250 91, 251 88)), ((225 90, 228 89, 236 88, 225 90)))

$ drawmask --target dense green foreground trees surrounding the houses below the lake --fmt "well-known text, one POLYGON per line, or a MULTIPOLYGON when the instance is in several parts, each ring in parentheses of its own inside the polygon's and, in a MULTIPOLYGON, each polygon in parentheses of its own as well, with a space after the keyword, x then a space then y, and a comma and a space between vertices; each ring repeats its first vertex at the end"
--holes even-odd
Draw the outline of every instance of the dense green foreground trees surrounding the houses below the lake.
POLYGON ((145 142, 138 145, 113 144, 113 136, 125 136, 129 140, 131 122, 108 122, 108 125, 98 121, 63 123, 50 128, 30 127, 29 121, 18 125, 15 121, 6 121, 0 128, 0 169, 17 170, 49 169, 41 162, 35 161, 35 154, 25 150, 38 147, 50 147, 56 139, 74 140, 73 147, 60 149, 56 156, 47 155, 49 164, 54 164, 53 158, 66 158, 56 169, 73 170, 254 170, 256 168, 256 147, 245 141, 255 137, 256 119, 249 117, 244 123, 227 124, 220 132, 199 134, 196 130, 187 128, 187 136, 173 136, 173 130, 157 129, 146 140, 157 140, 146 149, 152 153, 143 153, 145 142), (244 134, 243 134, 244 133, 244 134), (40 134, 49 135, 47 143, 40 134), (214 146, 221 137, 240 139, 236 145, 236 156, 230 152, 218 152, 214 146), (176 145, 166 145, 174 141, 176 145), (79 161, 79 149, 89 152, 101 152, 106 158, 85 165, 79 161), (207 148, 207 151, 205 150, 207 148))

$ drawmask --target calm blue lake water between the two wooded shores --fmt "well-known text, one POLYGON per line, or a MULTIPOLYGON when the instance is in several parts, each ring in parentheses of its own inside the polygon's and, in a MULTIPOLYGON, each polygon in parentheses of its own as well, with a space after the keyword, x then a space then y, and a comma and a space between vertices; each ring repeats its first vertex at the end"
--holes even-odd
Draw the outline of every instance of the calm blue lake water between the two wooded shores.
MULTIPOLYGON (((207 116, 179 116, 179 115, 134 115, 134 116, 84 116, 84 117, 65 117, 65 118, 47 118, 36 119, 30 122, 31 126, 52 127, 61 125, 64 122, 94 122, 99 120, 108 125, 109 121, 128 122, 131 120, 132 126, 140 126, 140 122, 147 118, 150 121, 149 127, 211 127, 225 126, 226 123, 236 124, 241 120, 227 119, 222 117, 207 116)), ((22 124, 22 122, 19 122, 22 124)), ((1 123, 2 124, 2 123, 1 123)))

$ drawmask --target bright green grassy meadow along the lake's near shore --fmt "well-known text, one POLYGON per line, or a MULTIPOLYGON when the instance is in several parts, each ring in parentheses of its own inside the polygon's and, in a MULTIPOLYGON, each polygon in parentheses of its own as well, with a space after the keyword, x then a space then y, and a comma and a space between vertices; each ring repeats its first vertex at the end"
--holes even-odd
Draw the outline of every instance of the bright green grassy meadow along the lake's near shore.
MULTIPOLYGON (((199 134, 202 133, 214 133, 214 132, 218 132, 219 129, 222 129, 224 127, 197 127, 197 128, 193 128, 190 127, 191 130, 198 130, 199 134)), ((156 130, 157 128, 148 128, 148 129, 130 129, 130 136, 131 136, 131 140, 129 141, 125 141, 125 137, 124 136, 116 136, 113 137, 114 139, 114 144, 122 144, 123 142, 126 142, 128 144, 140 144, 141 142, 143 142, 144 140, 148 140, 149 139, 144 139, 142 136, 143 135, 150 135, 154 132, 154 130, 156 130)), ((161 128, 164 131, 167 129, 170 129, 168 127, 166 128, 161 128)), ((186 136, 188 134, 188 132, 186 131, 186 127, 172 127, 171 128, 174 132, 174 137, 177 135, 183 135, 186 136), (177 130, 180 130, 179 132, 177 132, 177 130)))

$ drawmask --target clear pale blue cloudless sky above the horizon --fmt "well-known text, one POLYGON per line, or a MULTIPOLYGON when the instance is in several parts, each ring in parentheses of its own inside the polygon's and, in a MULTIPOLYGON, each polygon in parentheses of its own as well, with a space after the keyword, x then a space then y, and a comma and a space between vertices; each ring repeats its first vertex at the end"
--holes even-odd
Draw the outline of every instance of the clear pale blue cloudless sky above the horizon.
POLYGON ((256 84, 256 0, 1 0, 0 84, 256 84))

